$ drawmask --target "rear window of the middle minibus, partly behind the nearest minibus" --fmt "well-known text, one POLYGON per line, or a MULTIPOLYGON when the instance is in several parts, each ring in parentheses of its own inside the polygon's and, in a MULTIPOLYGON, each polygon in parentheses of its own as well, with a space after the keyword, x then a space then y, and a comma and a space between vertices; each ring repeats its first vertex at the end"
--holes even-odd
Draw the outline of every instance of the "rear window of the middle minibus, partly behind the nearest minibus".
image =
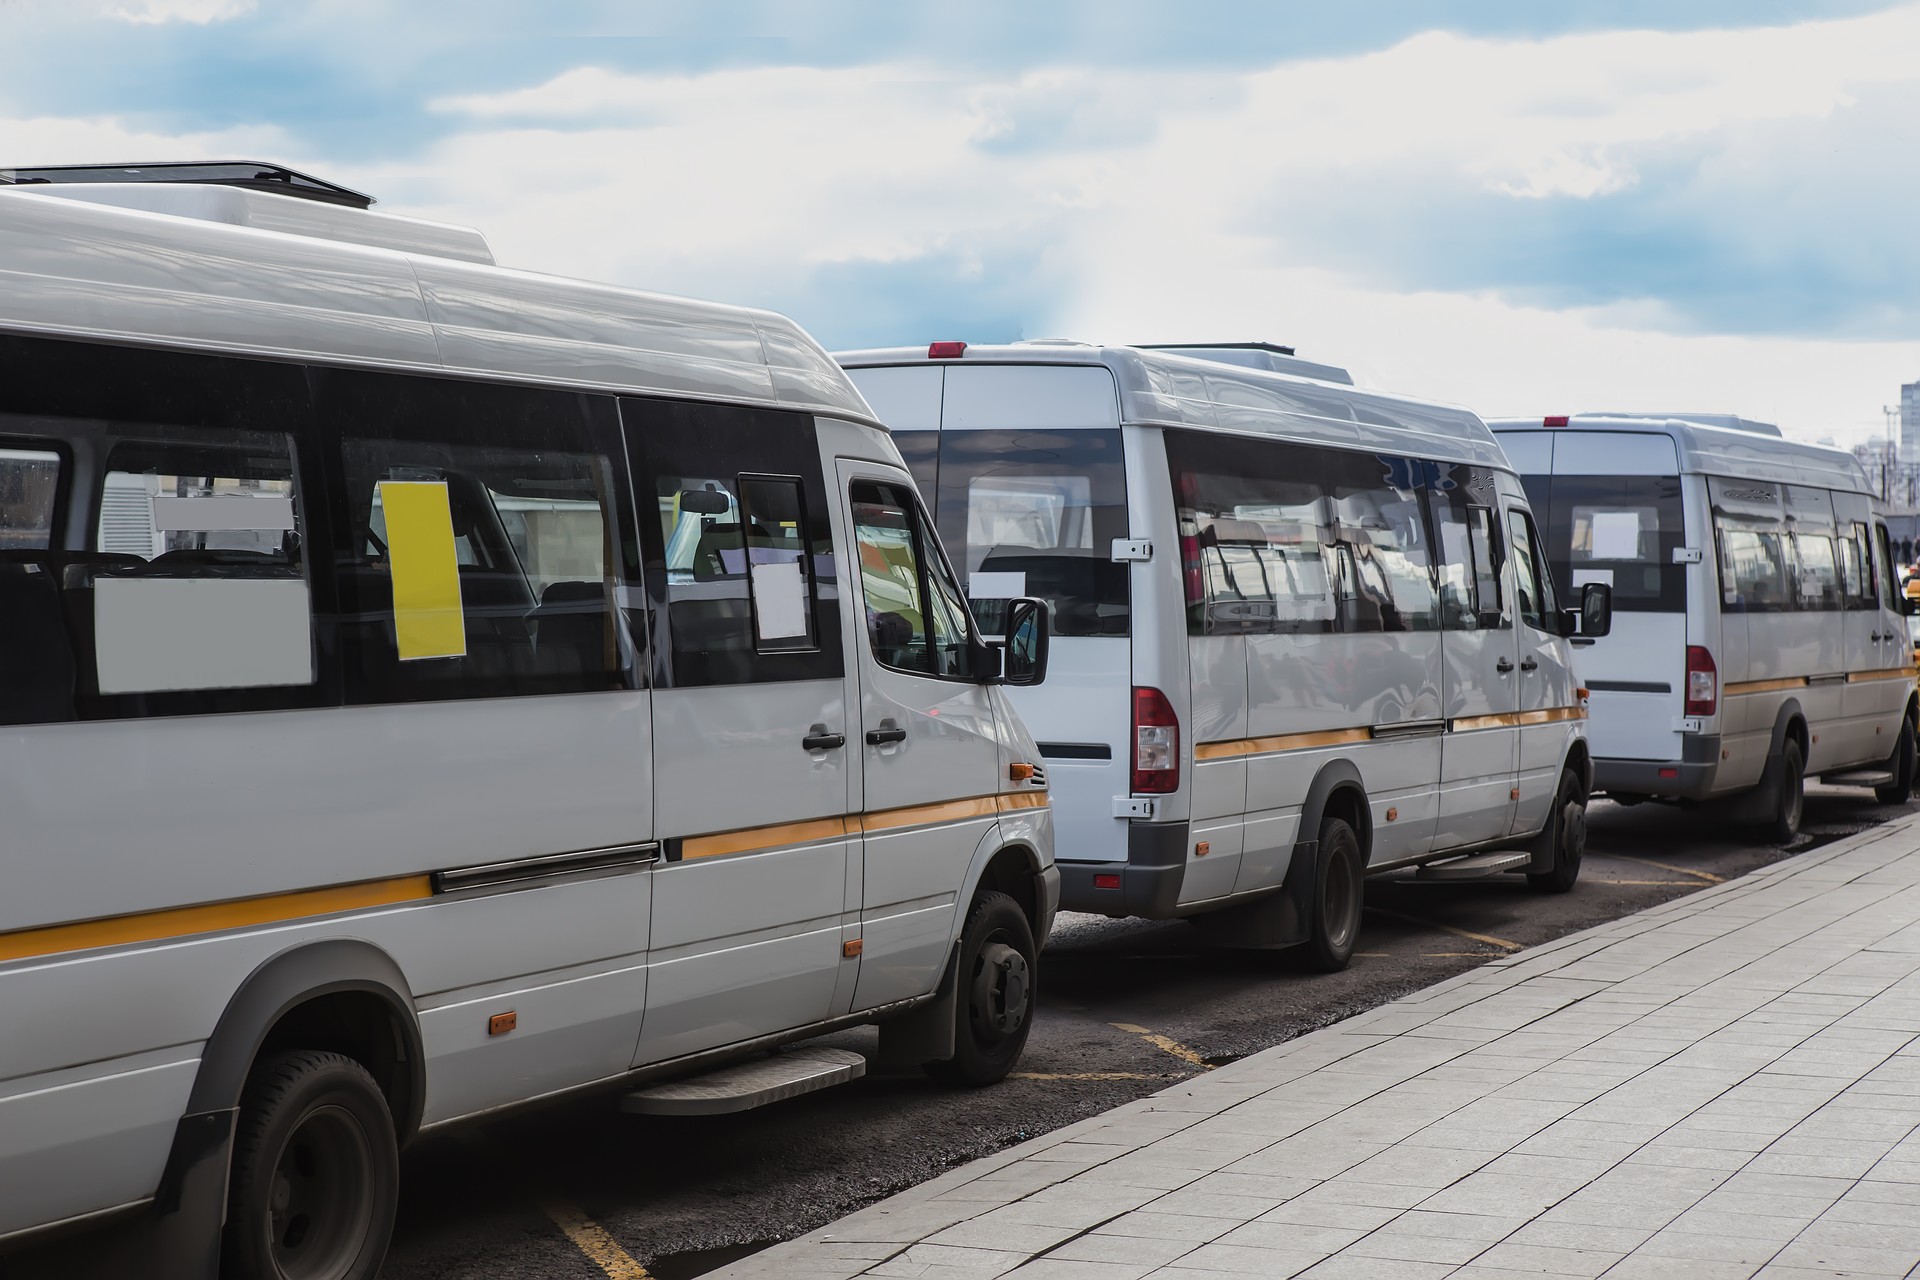
POLYGON ((1117 430, 899 432, 987 635, 1006 601, 1052 608, 1054 635, 1125 635, 1127 482, 1117 430))

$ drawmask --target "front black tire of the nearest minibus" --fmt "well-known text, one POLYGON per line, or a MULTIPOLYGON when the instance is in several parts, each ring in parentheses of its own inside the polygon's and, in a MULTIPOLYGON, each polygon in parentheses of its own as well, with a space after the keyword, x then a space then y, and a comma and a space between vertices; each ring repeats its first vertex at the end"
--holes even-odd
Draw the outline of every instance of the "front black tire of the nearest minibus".
POLYGON ((1006 1079, 1033 1031, 1037 961, 1020 904, 995 890, 975 896, 960 933, 954 1055, 927 1063, 927 1075, 970 1086, 1006 1079))

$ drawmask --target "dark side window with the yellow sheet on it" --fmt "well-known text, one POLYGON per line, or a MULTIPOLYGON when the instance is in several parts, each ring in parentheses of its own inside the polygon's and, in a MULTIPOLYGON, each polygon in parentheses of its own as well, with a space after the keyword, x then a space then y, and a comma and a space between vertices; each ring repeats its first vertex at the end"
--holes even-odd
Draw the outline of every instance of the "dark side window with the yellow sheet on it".
POLYGON ((611 401, 530 388, 324 372, 340 449, 348 699, 618 687, 614 608, 632 555, 611 401))

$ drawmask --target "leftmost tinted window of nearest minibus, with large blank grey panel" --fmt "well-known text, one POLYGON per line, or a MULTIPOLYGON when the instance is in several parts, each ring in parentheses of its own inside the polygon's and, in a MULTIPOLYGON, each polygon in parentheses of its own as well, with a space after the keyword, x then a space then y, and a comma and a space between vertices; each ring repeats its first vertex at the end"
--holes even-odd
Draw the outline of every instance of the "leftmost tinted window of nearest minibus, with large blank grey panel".
POLYGON ((332 700, 301 370, 25 338, 0 365, 33 434, 0 443, 0 722, 332 700))

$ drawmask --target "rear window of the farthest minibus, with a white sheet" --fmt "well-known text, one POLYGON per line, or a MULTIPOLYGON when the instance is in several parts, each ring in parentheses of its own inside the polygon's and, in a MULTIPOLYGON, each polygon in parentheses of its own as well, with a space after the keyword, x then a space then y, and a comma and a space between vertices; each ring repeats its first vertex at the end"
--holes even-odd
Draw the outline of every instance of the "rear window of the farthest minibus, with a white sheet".
POLYGON ((1674 564, 1686 545, 1678 476, 1528 476, 1526 495, 1563 599, 1599 581, 1619 610, 1686 610, 1686 566, 1674 564))

